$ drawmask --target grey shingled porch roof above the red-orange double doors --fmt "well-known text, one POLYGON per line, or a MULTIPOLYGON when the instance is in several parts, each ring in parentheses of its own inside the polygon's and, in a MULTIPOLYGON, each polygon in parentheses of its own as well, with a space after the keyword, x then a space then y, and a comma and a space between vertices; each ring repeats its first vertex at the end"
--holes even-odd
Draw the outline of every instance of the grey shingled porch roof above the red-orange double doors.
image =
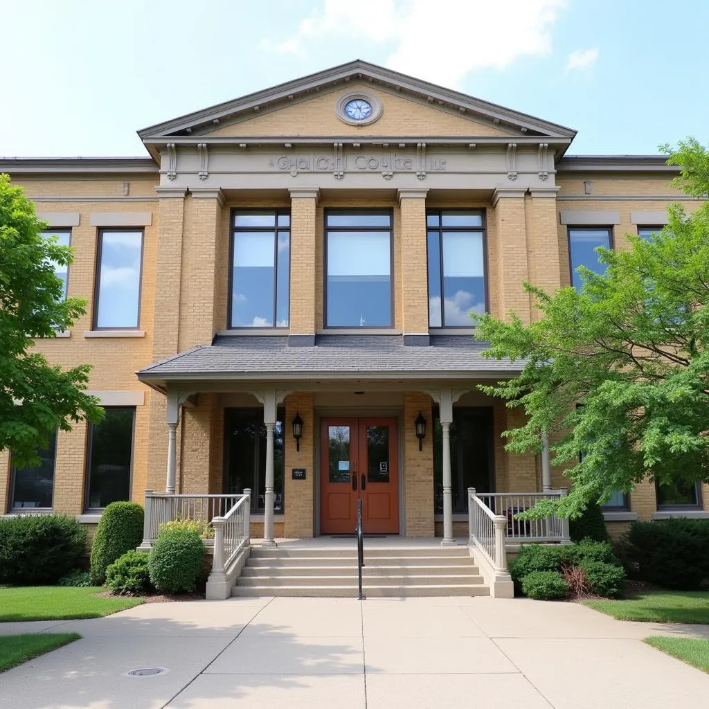
POLYGON ((523 363, 486 359, 474 337, 433 335, 428 347, 404 345, 401 335, 318 335, 312 347, 289 345, 287 335, 217 336, 138 372, 160 386, 205 379, 470 379, 513 376, 523 363))

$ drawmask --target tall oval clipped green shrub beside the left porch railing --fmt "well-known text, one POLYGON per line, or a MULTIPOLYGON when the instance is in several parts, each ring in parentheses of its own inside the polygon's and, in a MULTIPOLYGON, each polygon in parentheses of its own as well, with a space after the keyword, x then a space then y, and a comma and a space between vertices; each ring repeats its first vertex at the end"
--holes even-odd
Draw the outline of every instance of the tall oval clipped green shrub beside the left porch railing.
POLYGON ((143 508, 135 502, 112 502, 106 506, 91 545, 91 579, 101 586, 109 564, 134 550, 143 541, 143 508))

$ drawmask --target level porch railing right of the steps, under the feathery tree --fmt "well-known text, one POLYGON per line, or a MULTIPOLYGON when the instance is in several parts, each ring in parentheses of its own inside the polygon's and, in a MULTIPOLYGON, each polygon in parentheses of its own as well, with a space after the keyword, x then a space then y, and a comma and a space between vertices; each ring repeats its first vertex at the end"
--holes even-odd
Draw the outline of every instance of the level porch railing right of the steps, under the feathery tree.
POLYGON ((549 515, 540 519, 518 520, 516 515, 535 507, 541 500, 558 500, 566 489, 546 492, 474 493, 493 515, 506 520, 506 538, 511 544, 529 542, 569 542, 569 520, 549 515))

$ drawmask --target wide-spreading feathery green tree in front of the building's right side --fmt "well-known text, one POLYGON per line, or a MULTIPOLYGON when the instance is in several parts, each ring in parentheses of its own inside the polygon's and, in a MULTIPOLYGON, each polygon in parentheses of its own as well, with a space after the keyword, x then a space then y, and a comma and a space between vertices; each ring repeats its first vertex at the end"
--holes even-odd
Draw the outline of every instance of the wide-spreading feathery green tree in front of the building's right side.
MULTIPOLYGON (((709 192, 709 152, 696 140, 667 162, 679 165, 674 182, 686 194, 709 192)), ((598 248, 605 274, 581 267, 580 292, 525 283, 541 316, 530 325, 475 316, 476 336, 491 342, 486 357, 522 367, 480 387, 527 415, 505 432, 507 450, 540 450, 547 432, 553 464, 569 466, 569 496, 537 515, 575 517, 647 475, 709 481, 709 203, 668 214, 652 240, 628 235, 630 250, 598 248)))

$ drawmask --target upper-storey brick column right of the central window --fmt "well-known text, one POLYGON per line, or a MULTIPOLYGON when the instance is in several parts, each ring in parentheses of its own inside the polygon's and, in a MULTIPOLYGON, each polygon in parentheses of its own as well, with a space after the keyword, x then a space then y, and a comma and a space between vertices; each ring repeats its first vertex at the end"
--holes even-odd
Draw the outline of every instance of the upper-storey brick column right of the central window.
POLYGON ((400 189, 401 208, 401 322, 404 345, 428 345, 428 279, 426 194, 428 189, 400 189), (406 248, 404 248, 406 244, 406 248))

